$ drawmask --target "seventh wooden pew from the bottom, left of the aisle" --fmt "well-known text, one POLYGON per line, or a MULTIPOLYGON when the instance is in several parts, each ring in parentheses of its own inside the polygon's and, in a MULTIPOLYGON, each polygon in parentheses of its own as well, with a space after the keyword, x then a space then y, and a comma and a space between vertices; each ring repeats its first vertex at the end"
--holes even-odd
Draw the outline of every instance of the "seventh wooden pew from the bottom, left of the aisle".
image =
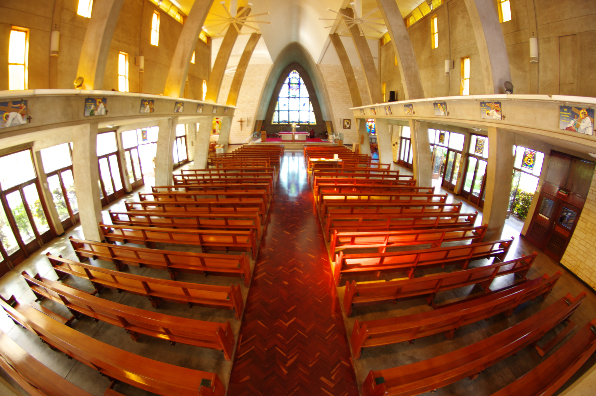
MULTIPOLYGON (((133 202, 136 203, 136 202, 133 202)), ((172 208, 173 209, 173 208, 172 208)), ((167 211, 131 210, 126 212, 108 211, 113 224, 119 226, 161 227, 187 230, 253 230, 257 239, 261 235, 259 214, 223 214, 167 211)), ((172 243, 184 243, 172 242, 172 243)), ((149 246, 151 247, 151 246, 149 246)))

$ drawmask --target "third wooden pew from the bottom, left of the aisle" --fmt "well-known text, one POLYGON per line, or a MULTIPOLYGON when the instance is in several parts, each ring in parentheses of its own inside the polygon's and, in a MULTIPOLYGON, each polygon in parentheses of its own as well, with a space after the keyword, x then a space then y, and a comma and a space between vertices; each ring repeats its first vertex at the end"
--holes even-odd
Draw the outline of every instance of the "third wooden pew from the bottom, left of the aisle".
POLYGON ((207 322, 142 310, 95 297, 65 283, 41 277, 39 274, 29 276, 23 271, 21 275, 38 300, 48 298, 62 304, 71 312, 75 311, 73 314, 77 319, 80 314, 83 314, 118 326, 125 329, 134 341, 139 341, 139 335, 144 334, 165 339, 172 345, 181 342, 195 347, 221 350, 226 360, 230 361, 232 358, 234 334, 229 322, 207 322))

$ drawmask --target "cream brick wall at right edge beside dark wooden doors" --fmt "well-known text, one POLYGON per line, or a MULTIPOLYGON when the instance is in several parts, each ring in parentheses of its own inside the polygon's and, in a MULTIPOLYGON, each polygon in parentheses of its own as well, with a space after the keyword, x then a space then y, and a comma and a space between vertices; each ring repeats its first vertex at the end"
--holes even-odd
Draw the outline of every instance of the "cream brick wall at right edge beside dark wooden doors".
POLYGON ((596 173, 561 264, 596 288, 596 173))

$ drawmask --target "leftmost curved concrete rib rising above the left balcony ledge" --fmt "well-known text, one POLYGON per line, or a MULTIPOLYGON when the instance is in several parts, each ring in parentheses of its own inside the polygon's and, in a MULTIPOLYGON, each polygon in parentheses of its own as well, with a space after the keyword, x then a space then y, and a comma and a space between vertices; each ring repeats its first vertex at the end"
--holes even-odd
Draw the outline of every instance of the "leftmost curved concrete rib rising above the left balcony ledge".
POLYGON ((103 89, 105 63, 123 2, 104 0, 93 5, 77 68, 77 76, 85 79, 83 89, 103 89))

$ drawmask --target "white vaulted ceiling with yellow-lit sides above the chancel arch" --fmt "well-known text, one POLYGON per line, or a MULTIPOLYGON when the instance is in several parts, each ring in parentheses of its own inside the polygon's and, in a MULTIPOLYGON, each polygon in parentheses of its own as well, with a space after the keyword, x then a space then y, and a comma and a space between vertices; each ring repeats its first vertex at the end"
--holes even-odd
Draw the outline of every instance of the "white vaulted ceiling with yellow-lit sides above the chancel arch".
MULTIPOLYGON (((238 7, 247 7, 250 0, 238 0, 238 7)), ((253 24, 262 32, 262 38, 259 45, 255 49, 251 63, 272 63, 281 50, 291 42, 299 42, 311 53, 312 58, 318 60, 319 63, 339 64, 337 54, 333 49, 333 45, 329 45, 328 35, 330 33, 340 33, 344 30, 345 25, 339 27, 325 28, 325 26, 337 25, 340 17, 336 13, 328 11, 331 8, 333 11, 339 12, 340 8, 351 7, 350 1, 353 0, 252 0, 252 13, 269 13, 269 15, 262 15, 256 17, 257 20, 269 21, 271 24, 253 24), (320 20, 320 18, 331 18, 333 20, 320 20), (333 30, 333 32, 332 32, 333 30)), ((424 0, 396 0, 402 16, 411 13, 424 0)), ((194 0, 172 0, 175 5, 184 13, 190 12, 194 0)), ((229 8, 230 0, 225 0, 226 7, 229 8)), ((377 7, 376 0, 362 0, 362 14, 367 14, 369 11, 377 7)), ((221 45, 221 38, 223 34, 218 35, 225 25, 217 23, 222 21, 218 15, 226 15, 220 1, 215 0, 211 7, 210 13, 205 21, 205 30, 212 36, 212 60, 215 60, 219 46, 221 45)), ((381 17, 380 11, 376 11, 370 17, 381 17)), ((383 20, 377 20, 382 22, 383 20)), ((376 26, 381 32, 386 32, 384 26, 376 26)), ((250 33, 254 30, 244 27, 242 35, 238 37, 232 56, 228 63, 228 68, 237 66, 238 60, 244 51, 244 45, 249 38, 250 33)), ((373 51, 373 57, 377 57, 376 40, 380 38, 381 33, 375 32, 372 29, 364 28, 364 34, 373 51)), ((355 49, 353 48, 352 40, 342 38, 346 51, 352 61, 353 66, 360 66, 355 49)))

